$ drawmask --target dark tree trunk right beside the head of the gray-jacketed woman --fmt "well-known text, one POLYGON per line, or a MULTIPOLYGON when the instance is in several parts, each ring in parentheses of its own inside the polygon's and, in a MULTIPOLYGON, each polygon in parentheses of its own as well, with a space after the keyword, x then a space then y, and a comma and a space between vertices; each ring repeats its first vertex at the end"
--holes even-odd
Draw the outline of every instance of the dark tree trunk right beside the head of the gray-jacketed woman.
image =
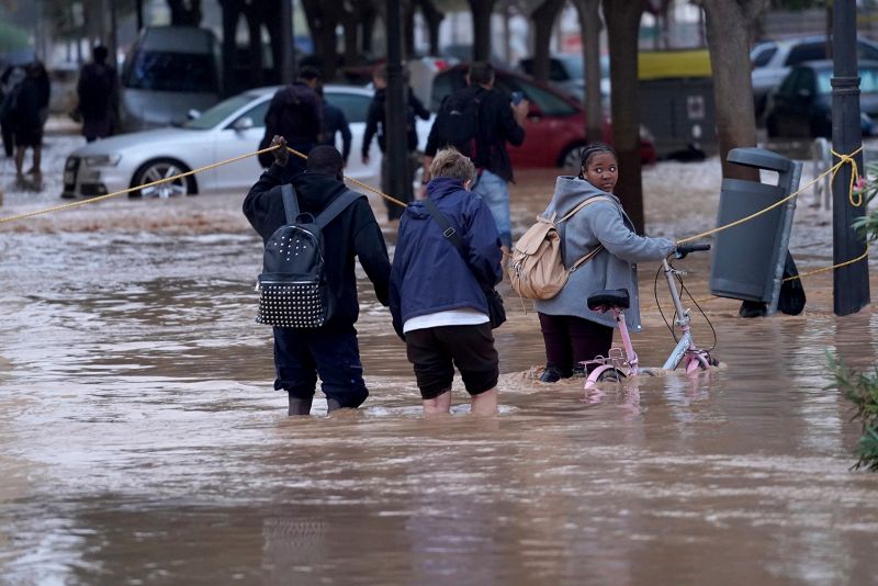
POLYGON ((640 234, 643 233, 643 184, 637 47, 645 7, 645 0, 604 0, 610 49, 612 144, 619 158, 616 194, 640 234))

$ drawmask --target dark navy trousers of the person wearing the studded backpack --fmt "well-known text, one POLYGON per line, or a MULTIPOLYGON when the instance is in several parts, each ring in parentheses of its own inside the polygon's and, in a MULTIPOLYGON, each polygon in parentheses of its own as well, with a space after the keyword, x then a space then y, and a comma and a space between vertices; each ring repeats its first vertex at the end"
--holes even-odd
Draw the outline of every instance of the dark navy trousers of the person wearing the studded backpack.
POLYGON ((274 388, 291 397, 311 398, 320 377, 326 398, 341 407, 359 407, 369 396, 357 330, 331 328, 274 328, 274 388))

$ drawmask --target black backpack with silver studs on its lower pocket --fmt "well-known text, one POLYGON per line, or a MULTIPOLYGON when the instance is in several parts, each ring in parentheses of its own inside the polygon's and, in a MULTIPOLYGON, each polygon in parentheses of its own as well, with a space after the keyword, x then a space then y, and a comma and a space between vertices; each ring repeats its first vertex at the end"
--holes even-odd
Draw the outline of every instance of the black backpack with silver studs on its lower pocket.
POLYGON ((289 328, 318 328, 334 313, 333 295, 326 284, 323 228, 348 205, 364 198, 347 190, 315 218, 299 213, 293 185, 281 188, 286 224, 266 243, 262 274, 257 281, 257 323, 289 328))

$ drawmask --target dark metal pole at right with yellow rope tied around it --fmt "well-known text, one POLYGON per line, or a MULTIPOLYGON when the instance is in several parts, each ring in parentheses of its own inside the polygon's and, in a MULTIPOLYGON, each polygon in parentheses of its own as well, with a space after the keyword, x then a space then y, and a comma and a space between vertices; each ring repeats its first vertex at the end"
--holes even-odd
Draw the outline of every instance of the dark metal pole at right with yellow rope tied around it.
MULTIPOLYGON (((862 145, 859 125, 859 77, 857 68, 857 31, 855 0, 835 0, 833 4, 833 78, 832 146, 847 155, 862 145)), ((857 154, 857 168, 863 170, 863 154, 857 154)), ((833 158, 833 165, 840 158, 833 158)), ((832 183, 833 263, 852 260, 866 251, 866 243, 857 237, 851 224, 866 212, 865 201, 855 206, 851 201, 851 165, 843 165, 832 183)), ((866 260, 835 269, 833 309, 835 315, 849 315, 869 303, 869 268, 866 260)))

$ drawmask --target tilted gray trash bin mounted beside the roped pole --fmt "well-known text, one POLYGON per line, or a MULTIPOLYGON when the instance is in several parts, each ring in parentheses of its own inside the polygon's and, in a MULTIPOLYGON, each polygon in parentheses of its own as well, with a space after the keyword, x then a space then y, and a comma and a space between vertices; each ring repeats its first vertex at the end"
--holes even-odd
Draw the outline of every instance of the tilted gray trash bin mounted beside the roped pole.
MULTIPOLYGON (((777 185, 723 179, 717 226, 731 224, 776 203, 797 189, 801 162, 764 148, 735 148, 728 160, 776 171, 777 185)), ((766 304, 777 309, 796 198, 741 225, 718 233, 713 243, 710 291, 720 297, 766 304)))

